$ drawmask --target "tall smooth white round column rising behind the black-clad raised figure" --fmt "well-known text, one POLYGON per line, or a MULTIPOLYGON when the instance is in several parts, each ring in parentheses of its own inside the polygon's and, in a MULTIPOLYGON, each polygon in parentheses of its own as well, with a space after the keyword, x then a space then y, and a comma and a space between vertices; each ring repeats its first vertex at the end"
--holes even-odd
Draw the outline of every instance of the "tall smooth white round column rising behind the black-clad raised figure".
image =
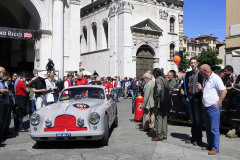
POLYGON ((64 23, 63 23, 63 0, 54 0, 53 2, 53 43, 52 59, 55 64, 55 70, 59 71, 59 78, 64 76, 64 23))

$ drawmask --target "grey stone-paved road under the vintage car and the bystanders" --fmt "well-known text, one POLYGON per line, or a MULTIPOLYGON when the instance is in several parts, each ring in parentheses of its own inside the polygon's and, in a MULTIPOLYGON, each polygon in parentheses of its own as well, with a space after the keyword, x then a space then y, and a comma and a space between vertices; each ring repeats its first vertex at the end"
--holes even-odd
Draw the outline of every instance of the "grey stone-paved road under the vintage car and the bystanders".
MULTIPOLYGON (((199 147, 185 144, 190 127, 169 125, 168 140, 152 142, 153 132, 140 132, 140 123, 132 121, 131 100, 118 103, 119 127, 113 129, 109 145, 96 142, 51 142, 39 148, 28 133, 12 134, 0 145, 0 160, 151 160, 151 159, 239 159, 240 138, 221 135, 220 154, 208 156, 199 147)), ((27 119, 26 124, 28 123, 27 119)), ((203 141, 206 142, 205 132, 203 141)))

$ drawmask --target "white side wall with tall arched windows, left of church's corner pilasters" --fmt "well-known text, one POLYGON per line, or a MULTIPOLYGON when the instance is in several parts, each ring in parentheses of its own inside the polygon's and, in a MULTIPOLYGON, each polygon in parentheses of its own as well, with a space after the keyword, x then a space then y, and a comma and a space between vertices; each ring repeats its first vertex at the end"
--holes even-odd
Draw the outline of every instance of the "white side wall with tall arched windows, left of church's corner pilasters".
POLYGON ((81 68, 93 73, 97 71, 101 76, 109 76, 110 73, 110 58, 112 58, 114 53, 109 52, 109 48, 102 44, 102 39, 104 38, 103 22, 108 22, 108 46, 110 44, 110 22, 109 22, 109 10, 107 6, 99 9, 98 11, 89 14, 81 18, 81 35, 83 35, 83 27, 87 27, 87 49, 85 52, 81 51, 81 68), (97 16, 96 16, 97 15, 97 16), (95 45, 93 42, 92 24, 97 24, 97 48, 91 48, 95 45))

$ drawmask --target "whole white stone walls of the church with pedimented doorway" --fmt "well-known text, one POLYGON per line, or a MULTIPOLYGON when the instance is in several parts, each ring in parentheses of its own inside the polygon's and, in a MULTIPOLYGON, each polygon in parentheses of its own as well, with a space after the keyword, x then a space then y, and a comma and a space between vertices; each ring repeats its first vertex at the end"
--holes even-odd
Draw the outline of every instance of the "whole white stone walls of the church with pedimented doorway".
MULTIPOLYGON (((98 24, 99 44, 97 50, 88 49, 87 52, 82 53, 82 68, 90 72, 96 70, 101 76, 135 77, 137 50, 141 45, 147 44, 155 53, 154 67, 164 68, 165 71, 177 70, 177 66, 170 60, 170 44, 175 45, 175 54, 177 55, 180 48, 179 30, 181 29, 179 28, 179 19, 182 21, 182 15, 182 7, 139 0, 131 2, 116 1, 106 7, 96 9, 93 13, 85 15, 81 19, 81 28, 84 26, 88 28, 88 39, 91 37, 91 24, 93 22, 98 24), (144 12, 142 12, 143 10, 144 12), (168 16, 161 18, 160 10, 167 12, 168 16), (174 34, 169 33, 171 17, 175 18, 174 34), (157 40, 151 38, 151 36, 135 39, 136 37, 131 32, 131 26, 148 18, 163 30, 162 35, 157 40), (102 21, 104 19, 109 21, 108 49, 102 48, 101 45, 102 21), (93 59, 94 55, 100 57, 93 59), (98 64, 98 67, 93 67, 92 64, 98 64)), ((83 34, 82 29, 81 34, 83 34)), ((88 46, 91 46, 90 43, 91 40, 88 40, 88 46)))

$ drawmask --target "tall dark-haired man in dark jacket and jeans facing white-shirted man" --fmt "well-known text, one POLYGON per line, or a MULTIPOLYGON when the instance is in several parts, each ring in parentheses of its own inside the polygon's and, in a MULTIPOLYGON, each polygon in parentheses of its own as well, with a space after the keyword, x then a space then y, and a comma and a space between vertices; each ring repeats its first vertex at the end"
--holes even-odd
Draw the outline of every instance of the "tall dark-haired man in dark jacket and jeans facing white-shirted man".
POLYGON ((202 92, 197 88, 197 83, 202 84, 203 77, 198 69, 198 61, 195 57, 190 59, 192 70, 186 72, 182 92, 186 96, 186 102, 192 121, 191 134, 192 138, 185 143, 195 146, 202 145, 202 92))

